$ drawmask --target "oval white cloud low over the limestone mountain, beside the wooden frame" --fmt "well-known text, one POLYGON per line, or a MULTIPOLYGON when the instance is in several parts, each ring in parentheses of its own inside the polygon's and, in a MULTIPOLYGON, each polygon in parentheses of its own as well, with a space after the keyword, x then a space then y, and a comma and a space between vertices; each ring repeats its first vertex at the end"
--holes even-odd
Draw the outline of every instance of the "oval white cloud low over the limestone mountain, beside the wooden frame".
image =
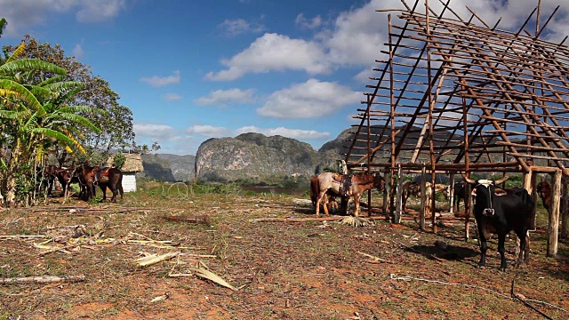
POLYGON ((306 83, 273 92, 257 113, 276 118, 330 116, 344 106, 359 104, 361 99, 360 92, 351 91, 341 84, 309 79, 306 83))

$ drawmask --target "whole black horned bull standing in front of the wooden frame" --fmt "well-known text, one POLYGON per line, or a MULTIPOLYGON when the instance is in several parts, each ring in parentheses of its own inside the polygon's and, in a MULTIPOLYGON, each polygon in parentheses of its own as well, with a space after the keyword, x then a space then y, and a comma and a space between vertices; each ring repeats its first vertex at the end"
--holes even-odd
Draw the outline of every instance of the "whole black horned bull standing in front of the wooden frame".
POLYGON ((533 199, 525 188, 497 188, 508 179, 504 176, 500 180, 471 180, 464 176, 464 180, 472 185, 474 197, 474 217, 477 220, 478 237, 480 239, 480 252, 482 253, 479 267, 485 267, 487 239, 493 234, 498 235, 498 252, 501 255, 500 269, 506 271, 506 257, 504 255, 504 242, 511 230, 516 232, 520 239, 517 262, 522 263, 529 257, 529 237, 526 237, 530 228, 533 199), (524 258, 522 260, 522 257, 524 258))

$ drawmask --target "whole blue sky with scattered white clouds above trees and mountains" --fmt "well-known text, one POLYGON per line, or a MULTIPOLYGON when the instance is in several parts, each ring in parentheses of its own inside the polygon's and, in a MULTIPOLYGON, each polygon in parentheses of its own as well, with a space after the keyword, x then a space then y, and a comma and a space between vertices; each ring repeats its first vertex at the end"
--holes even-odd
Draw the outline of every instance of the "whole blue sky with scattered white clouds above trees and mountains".
MULTIPOLYGON (((413 5, 413 0, 407 0, 413 5)), ((453 0, 501 28, 523 22, 537 0, 453 0)), ((423 1, 421 1, 421 4, 423 1)), ((569 29, 557 4, 547 38, 569 29)), ((440 7, 437 1, 430 5, 440 7)), ((565 6, 565 7, 564 7, 565 6)), ((0 0, 1 44, 29 34, 90 65, 132 109, 136 141, 195 155, 209 138, 283 135, 315 149, 355 124, 374 60, 385 59, 387 13, 399 0, 0 0)), ((424 9, 422 9, 424 11, 424 9)), ((395 14, 394 14, 395 15, 395 14)), ((543 22, 542 22, 543 23, 543 22)))

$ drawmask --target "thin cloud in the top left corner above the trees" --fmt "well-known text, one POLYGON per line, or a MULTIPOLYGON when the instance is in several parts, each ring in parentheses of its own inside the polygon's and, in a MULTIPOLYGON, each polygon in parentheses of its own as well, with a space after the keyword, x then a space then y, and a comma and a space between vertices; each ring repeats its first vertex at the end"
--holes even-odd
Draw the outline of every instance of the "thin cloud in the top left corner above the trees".
POLYGON ((48 23, 50 13, 76 12, 79 22, 115 18, 125 9, 125 0, 0 0, 2 16, 8 21, 4 36, 23 36, 29 28, 48 23))

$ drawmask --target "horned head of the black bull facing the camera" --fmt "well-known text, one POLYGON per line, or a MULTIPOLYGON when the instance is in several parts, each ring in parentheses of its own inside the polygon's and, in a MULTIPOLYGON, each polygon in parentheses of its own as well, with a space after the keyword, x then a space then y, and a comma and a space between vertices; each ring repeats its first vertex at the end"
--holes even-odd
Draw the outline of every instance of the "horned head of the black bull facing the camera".
POLYGON ((482 215, 491 217, 494 215, 493 197, 504 196, 506 191, 501 188, 496 188, 496 185, 501 184, 508 180, 508 176, 504 176, 499 180, 472 180, 462 175, 464 180, 472 186, 472 199, 474 202, 474 212, 481 213, 482 215))

